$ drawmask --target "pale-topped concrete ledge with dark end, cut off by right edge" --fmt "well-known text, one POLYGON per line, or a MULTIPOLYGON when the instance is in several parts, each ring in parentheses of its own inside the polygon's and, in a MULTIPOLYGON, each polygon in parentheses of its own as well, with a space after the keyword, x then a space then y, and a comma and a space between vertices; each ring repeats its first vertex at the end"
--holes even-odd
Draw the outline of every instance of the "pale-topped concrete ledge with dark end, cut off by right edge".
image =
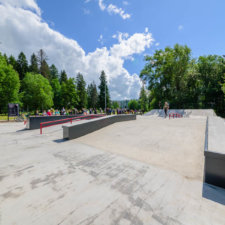
POLYGON ((205 182, 225 188, 224 119, 220 117, 208 117, 205 138, 205 182))

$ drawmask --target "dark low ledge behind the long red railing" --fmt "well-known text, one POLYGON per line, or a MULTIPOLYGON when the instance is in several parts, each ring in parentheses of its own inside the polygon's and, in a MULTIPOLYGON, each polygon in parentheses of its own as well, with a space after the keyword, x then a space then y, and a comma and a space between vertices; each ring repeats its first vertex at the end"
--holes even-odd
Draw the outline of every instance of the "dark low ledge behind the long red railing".
MULTIPOLYGON (((28 117, 28 121, 26 124, 26 129, 29 130, 34 130, 34 129, 40 129, 40 123, 42 122, 49 122, 49 121, 55 121, 55 120, 62 120, 62 119, 69 119, 69 118, 74 118, 78 116, 83 116, 83 115, 69 115, 69 116, 30 116, 28 117)), ((87 117, 90 115, 87 115, 87 117)), ((55 122, 54 124, 57 124, 55 122)))

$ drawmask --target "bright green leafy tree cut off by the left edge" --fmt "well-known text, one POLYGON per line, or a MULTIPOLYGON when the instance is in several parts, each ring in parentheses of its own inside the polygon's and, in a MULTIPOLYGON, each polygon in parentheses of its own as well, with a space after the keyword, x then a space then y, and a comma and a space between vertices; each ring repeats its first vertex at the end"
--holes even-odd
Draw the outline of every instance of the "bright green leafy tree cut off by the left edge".
POLYGON ((5 58, 0 53, 0 111, 7 111, 8 103, 19 102, 20 80, 18 73, 12 65, 7 65, 5 58))

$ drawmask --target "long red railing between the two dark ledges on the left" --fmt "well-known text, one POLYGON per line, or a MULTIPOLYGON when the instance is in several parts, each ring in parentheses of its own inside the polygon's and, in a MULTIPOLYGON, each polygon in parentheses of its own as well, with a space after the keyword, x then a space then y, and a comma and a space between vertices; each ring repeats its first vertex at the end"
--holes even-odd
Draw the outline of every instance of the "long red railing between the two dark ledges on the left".
POLYGON ((94 114, 94 115, 77 116, 77 117, 71 117, 71 118, 67 118, 67 119, 42 122, 42 123, 40 123, 40 134, 42 134, 42 129, 45 127, 51 127, 51 126, 60 125, 63 123, 69 123, 69 122, 72 124, 73 120, 80 121, 80 120, 94 119, 94 118, 103 117, 103 116, 105 116, 105 114, 94 114), (45 126, 45 124, 48 124, 48 125, 45 126))

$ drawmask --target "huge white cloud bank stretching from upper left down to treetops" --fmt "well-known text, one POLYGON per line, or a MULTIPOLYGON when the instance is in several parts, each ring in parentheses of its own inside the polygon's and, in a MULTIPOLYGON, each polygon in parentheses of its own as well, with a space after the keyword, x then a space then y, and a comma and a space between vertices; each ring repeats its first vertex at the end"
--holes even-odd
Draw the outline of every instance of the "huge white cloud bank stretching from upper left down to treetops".
POLYGON ((124 68, 124 62, 150 47, 153 42, 150 33, 135 33, 131 36, 118 33, 119 42, 109 49, 102 47, 85 53, 77 41, 50 28, 34 10, 34 6, 22 4, 19 7, 7 1, 0 4, 0 15, 1 52, 17 57, 23 51, 29 59, 33 52, 37 53, 42 48, 48 55, 48 63, 54 63, 60 70, 65 69, 70 77, 81 72, 87 83, 94 80, 98 84, 99 75, 104 70, 112 99, 138 97, 140 79, 137 74, 130 74, 124 68))

